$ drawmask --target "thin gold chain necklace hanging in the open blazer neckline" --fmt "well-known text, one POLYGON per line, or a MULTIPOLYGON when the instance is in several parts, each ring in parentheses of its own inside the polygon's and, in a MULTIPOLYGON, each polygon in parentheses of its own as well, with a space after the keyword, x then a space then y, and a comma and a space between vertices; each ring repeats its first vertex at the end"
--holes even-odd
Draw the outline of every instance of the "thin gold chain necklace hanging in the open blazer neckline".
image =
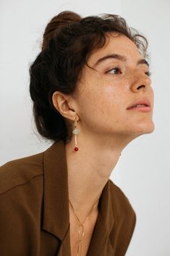
MULTIPOLYGON (((72 203, 70 202, 70 200, 69 200, 69 203, 70 203, 70 205, 72 206, 72 203)), ((97 205, 97 204, 98 204, 98 200, 97 200, 97 202, 95 202, 95 205, 97 205)), ((90 210, 90 213, 93 211, 95 205, 94 205, 93 208, 90 210)), ((88 214, 88 216, 87 216, 87 218, 85 219, 84 223, 81 223, 81 222, 80 222, 80 219, 78 218, 78 216, 77 216, 77 214, 76 214, 75 209, 74 209, 73 206, 72 206, 72 210, 73 210, 73 212, 75 213, 76 219, 77 219, 77 223, 78 223, 78 225, 80 226, 80 230, 79 230, 79 239, 78 239, 78 247, 77 247, 77 256, 81 256, 81 255, 82 255, 82 238, 83 238, 83 236, 85 235, 85 233, 84 233, 84 224, 85 224, 85 221, 88 219, 90 213, 88 214), (81 232, 81 230, 82 230, 82 232, 81 232)))

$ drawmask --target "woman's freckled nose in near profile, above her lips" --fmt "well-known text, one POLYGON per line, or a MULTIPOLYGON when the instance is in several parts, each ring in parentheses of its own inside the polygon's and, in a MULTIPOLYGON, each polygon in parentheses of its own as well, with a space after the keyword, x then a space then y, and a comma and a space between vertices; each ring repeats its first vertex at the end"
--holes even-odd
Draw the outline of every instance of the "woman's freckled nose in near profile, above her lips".
POLYGON ((150 86, 151 80, 143 70, 136 70, 132 73, 132 81, 130 89, 133 92, 145 91, 150 86))

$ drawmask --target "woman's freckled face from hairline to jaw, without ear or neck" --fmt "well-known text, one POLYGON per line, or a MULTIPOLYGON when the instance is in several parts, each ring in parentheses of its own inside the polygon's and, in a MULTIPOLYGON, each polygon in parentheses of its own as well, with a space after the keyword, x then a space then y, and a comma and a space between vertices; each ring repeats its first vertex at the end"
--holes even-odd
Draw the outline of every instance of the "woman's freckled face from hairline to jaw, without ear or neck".
POLYGON ((76 111, 84 133, 140 136, 154 130, 153 89, 149 67, 127 36, 112 33, 106 44, 90 55, 77 84, 76 111), (114 37, 113 37, 114 36, 114 37), (112 57, 106 57, 106 56, 112 57), (106 57, 106 58, 103 58, 106 57), (101 59, 101 60, 100 60, 101 59), (150 108, 127 108, 140 101, 150 108), (145 111, 144 111, 145 110, 145 111))

